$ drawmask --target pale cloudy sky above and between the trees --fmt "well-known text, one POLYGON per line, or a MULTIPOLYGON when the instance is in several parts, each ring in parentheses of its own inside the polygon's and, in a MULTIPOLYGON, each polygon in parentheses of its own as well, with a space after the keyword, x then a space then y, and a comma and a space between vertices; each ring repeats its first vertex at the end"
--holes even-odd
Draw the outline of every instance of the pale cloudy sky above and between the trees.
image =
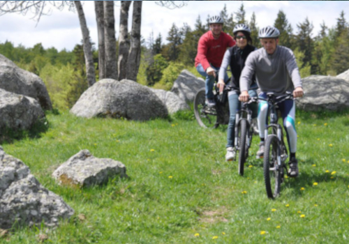
MULTIPOLYGON (((120 3, 115 2, 115 27, 118 36, 120 3)), ((313 35, 317 35, 320 31, 322 21, 325 21, 327 26, 333 27, 342 10, 345 13, 349 12, 349 1, 186 1, 186 3, 186 6, 182 8, 170 10, 156 5, 155 1, 144 1, 142 37, 147 39, 153 31, 155 37, 161 33, 165 41, 172 23, 181 27, 186 22, 193 27, 198 15, 205 23, 207 15, 219 15, 225 4, 228 13, 234 14, 244 3, 247 20, 251 20, 251 15, 255 12, 258 27, 273 25, 279 10, 283 10, 295 33, 297 33, 297 24, 304 22, 306 17, 309 17, 314 26, 313 35)), ((83 8, 91 40, 97 44, 94 2, 84 1, 83 8)), ((132 17, 131 11, 132 8, 129 22, 132 17)), ((348 16, 346 13, 347 22, 348 16)), ((36 43, 42 43, 45 48, 56 47, 59 51, 64 48, 72 50, 76 44, 81 43, 82 34, 77 13, 68 9, 59 11, 52 8, 52 13, 49 16, 41 17, 38 24, 31 20, 31 17, 33 17, 31 13, 25 16, 16 13, 0 16, 0 43, 8 40, 15 46, 22 44, 25 47, 33 47, 36 43)))

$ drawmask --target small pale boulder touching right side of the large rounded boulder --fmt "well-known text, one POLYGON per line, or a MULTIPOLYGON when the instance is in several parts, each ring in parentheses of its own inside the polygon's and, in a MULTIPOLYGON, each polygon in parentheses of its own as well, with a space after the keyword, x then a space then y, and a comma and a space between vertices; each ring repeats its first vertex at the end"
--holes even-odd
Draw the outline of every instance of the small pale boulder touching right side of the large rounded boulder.
POLYGON ((179 110, 191 109, 189 105, 186 104, 185 100, 179 98, 179 96, 172 91, 165 91, 161 89, 151 89, 151 91, 153 91, 156 96, 160 98, 170 114, 174 114, 179 110))

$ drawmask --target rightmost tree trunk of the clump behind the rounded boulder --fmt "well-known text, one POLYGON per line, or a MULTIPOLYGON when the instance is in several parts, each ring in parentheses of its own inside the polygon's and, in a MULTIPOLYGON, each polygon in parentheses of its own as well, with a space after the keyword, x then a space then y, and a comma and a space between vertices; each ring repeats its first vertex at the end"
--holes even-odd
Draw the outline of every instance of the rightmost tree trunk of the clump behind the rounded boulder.
POLYGON ((142 15, 142 1, 133 1, 133 17, 131 31, 131 49, 127 59, 127 79, 137 81, 140 68, 140 24, 142 15))

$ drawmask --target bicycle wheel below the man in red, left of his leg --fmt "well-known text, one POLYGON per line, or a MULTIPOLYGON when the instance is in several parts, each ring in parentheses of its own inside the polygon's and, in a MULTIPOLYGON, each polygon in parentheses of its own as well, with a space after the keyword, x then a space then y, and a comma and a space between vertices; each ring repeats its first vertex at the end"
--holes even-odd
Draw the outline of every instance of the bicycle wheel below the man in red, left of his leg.
POLYGON ((217 112, 216 109, 208 107, 205 104, 205 88, 200 89, 194 99, 195 119, 203 128, 217 128, 217 112))

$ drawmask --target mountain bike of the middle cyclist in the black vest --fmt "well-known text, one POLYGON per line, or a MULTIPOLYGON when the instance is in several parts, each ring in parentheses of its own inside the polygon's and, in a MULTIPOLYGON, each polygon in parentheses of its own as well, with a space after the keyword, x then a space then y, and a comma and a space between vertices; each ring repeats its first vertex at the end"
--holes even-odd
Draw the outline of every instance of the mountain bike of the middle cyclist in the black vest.
POLYGON ((251 147, 253 126, 252 111, 248 105, 257 102, 258 98, 250 98, 248 102, 242 102, 242 108, 237 112, 235 117, 235 148, 239 151, 238 172, 244 175, 244 164, 248 158, 248 149, 251 147))

